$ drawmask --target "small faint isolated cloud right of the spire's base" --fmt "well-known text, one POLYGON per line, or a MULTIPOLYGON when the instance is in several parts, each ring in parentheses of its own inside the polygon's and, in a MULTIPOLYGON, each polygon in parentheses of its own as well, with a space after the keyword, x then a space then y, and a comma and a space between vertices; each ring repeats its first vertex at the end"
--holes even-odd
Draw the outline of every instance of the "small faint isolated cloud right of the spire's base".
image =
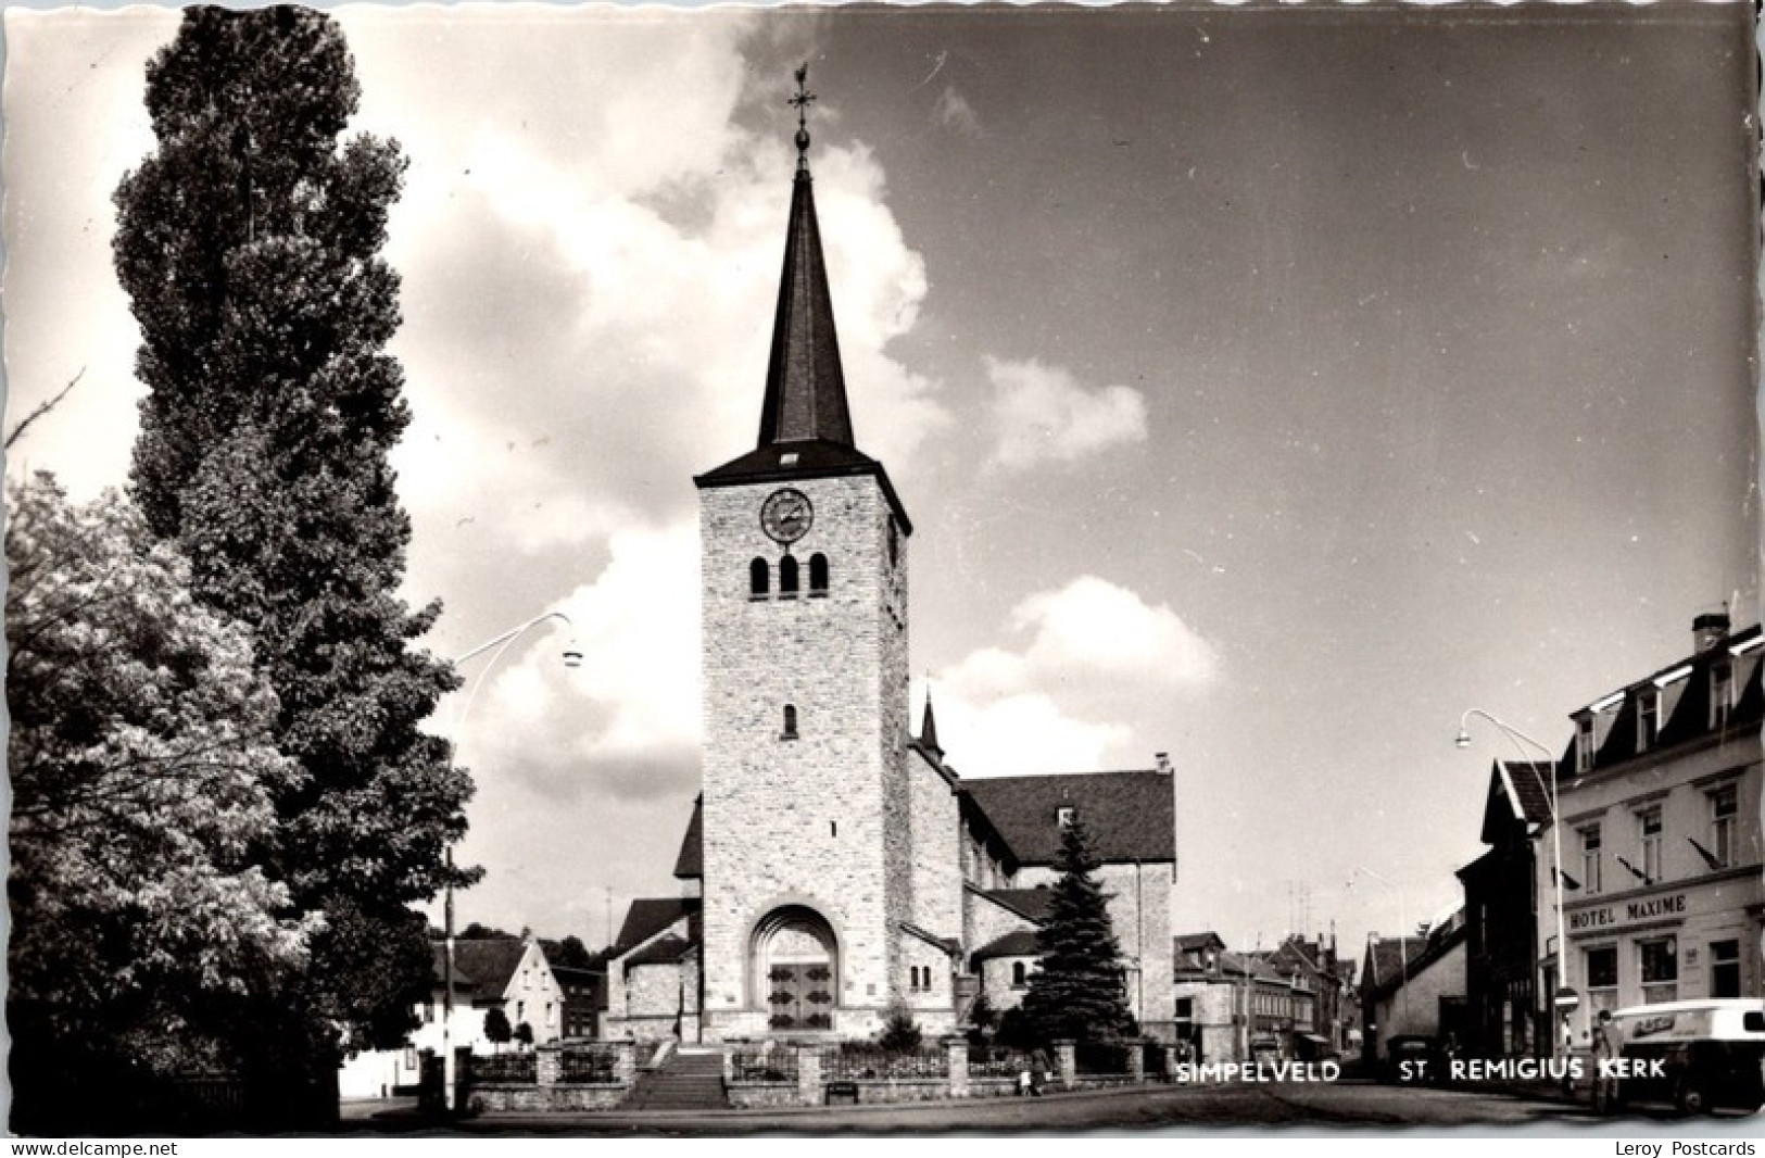
POLYGON ((1073 462, 1123 443, 1145 441, 1145 399, 1130 387, 1089 388, 1070 371, 1031 358, 987 358, 994 448, 1008 470, 1073 462))

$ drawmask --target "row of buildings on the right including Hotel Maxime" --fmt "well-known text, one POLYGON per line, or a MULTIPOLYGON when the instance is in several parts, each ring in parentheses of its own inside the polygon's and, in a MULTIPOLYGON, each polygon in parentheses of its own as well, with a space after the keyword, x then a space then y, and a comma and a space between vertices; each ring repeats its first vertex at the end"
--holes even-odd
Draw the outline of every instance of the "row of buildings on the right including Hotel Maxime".
POLYGON ((1368 1059, 1564 1057, 1603 1010, 1765 994, 1761 655, 1701 614, 1689 655, 1569 713, 1560 757, 1495 761, 1463 909, 1368 944, 1368 1059))

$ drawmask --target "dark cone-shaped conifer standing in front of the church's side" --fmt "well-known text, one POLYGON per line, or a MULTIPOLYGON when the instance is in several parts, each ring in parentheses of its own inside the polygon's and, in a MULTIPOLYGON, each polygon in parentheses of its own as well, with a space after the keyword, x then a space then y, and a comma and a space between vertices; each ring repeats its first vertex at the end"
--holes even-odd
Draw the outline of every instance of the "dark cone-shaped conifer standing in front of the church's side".
POLYGON ((1011 1029, 1038 1045, 1059 1038, 1108 1040, 1137 1031, 1128 1011, 1121 946, 1108 918, 1108 893, 1096 881, 1098 858, 1078 817, 1061 833, 1048 918, 1036 930, 1041 967, 1029 974, 1011 1029))

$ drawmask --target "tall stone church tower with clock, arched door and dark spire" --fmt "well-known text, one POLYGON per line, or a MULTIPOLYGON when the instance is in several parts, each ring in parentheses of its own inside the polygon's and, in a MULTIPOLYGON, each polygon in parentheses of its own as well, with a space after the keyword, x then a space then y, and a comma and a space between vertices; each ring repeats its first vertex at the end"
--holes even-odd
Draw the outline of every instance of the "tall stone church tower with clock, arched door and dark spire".
POLYGON ((755 448, 699 475, 706 1038, 865 1034, 905 966, 907 537, 858 450, 798 162, 755 448))

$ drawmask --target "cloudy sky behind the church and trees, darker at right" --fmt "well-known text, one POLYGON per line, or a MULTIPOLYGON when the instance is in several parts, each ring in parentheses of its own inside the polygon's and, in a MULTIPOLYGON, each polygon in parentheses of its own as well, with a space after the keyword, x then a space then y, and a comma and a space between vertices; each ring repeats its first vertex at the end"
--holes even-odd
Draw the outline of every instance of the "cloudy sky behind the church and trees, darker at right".
MULTIPOLYGON (((856 441, 964 777, 1175 766, 1179 932, 1449 911, 1490 763, 1758 621, 1744 4, 332 9, 466 662, 459 920, 607 939, 699 782, 697 496, 752 447, 808 62, 856 441), (584 653, 567 669, 561 651, 584 653), (469 711, 466 699, 471 696, 469 711)), ((173 9, 5 11, 7 427, 127 477, 111 192, 173 9)))

